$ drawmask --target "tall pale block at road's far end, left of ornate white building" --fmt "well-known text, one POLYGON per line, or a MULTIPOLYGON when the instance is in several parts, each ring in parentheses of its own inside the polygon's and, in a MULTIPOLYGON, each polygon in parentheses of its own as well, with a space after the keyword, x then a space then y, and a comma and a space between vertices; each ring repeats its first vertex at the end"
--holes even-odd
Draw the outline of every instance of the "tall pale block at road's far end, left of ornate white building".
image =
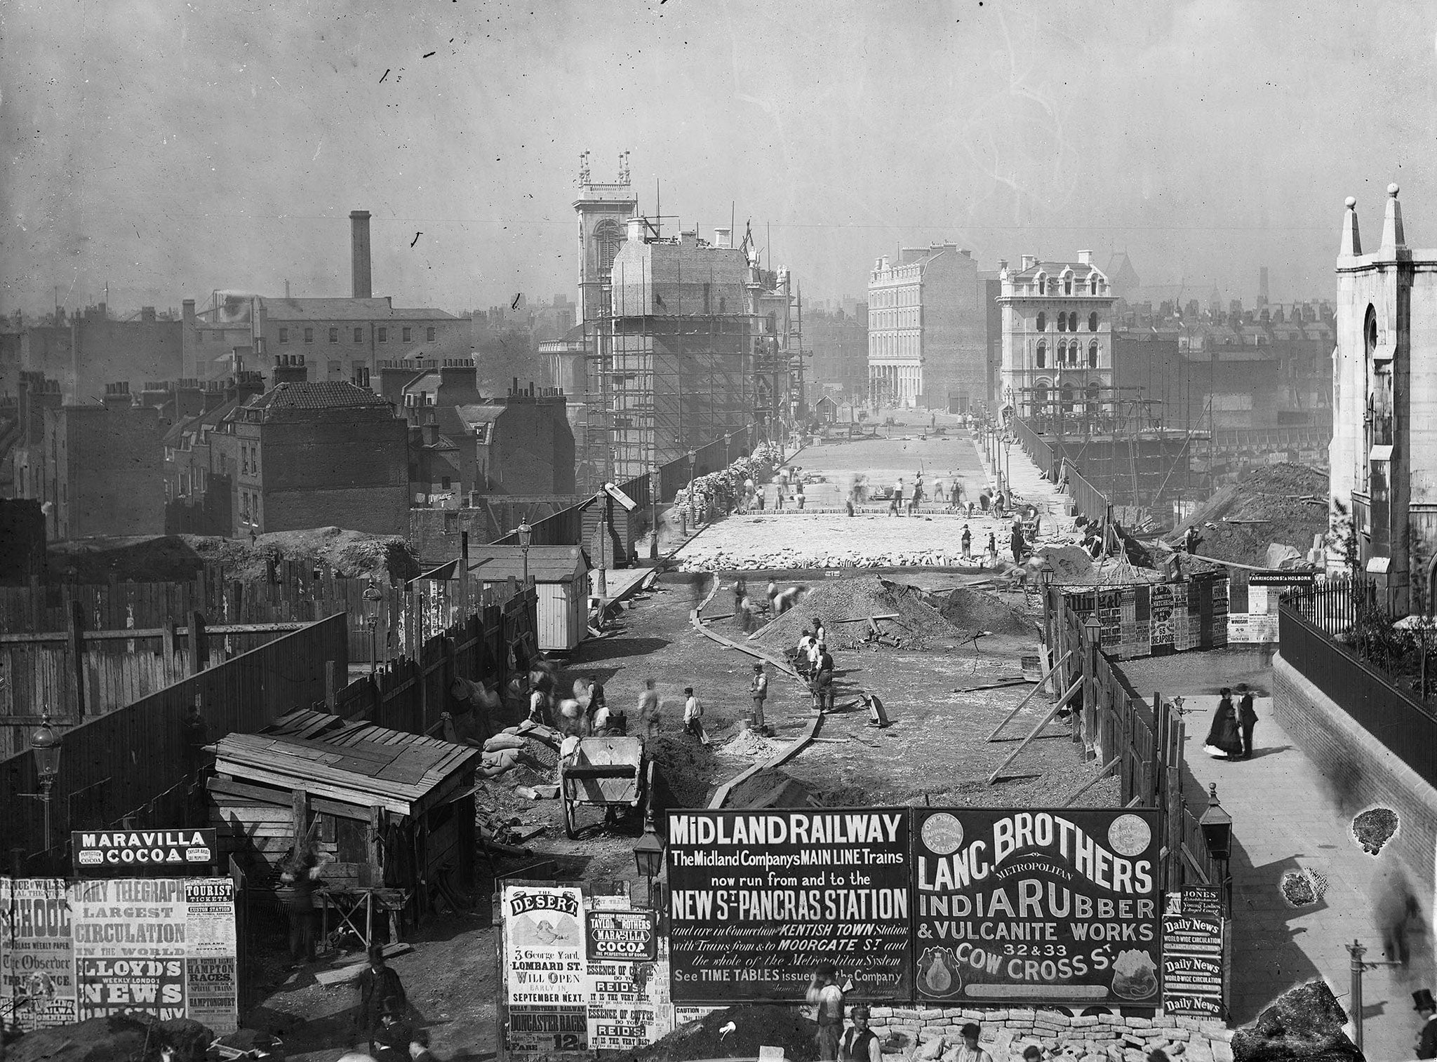
POLYGON ((956 244, 901 247, 868 276, 868 379, 875 405, 963 411, 987 398, 987 282, 956 244))

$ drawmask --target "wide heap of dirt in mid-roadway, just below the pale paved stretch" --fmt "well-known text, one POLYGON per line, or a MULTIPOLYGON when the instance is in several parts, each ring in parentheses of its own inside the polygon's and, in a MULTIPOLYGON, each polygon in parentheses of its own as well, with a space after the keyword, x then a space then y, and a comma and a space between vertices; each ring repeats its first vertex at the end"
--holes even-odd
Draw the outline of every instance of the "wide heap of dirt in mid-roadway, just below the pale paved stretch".
POLYGON ((915 591, 872 575, 861 575, 826 579, 816 585, 795 608, 759 631, 754 641, 777 650, 792 648, 799 644, 803 628, 812 625, 813 617, 821 617, 831 650, 856 650, 868 637, 868 624, 862 619, 890 615, 897 615, 897 619, 881 619, 878 625, 905 650, 951 645, 961 638, 953 624, 933 605, 921 601, 915 591), (841 622, 844 619, 859 622, 841 622))

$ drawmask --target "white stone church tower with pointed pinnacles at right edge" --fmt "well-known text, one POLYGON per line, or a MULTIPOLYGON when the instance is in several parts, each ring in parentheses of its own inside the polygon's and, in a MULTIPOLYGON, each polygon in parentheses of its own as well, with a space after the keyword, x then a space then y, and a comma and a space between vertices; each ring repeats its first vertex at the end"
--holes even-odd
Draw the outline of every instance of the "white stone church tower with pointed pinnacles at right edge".
MULTIPOLYGON (((1332 510, 1349 514, 1358 566, 1385 589, 1390 606, 1430 611, 1437 573, 1437 251, 1408 249, 1395 184, 1387 188, 1381 243, 1368 254, 1357 200, 1348 198, 1336 273, 1332 510)), ((1341 545, 1328 552, 1331 571, 1344 560, 1341 545)))

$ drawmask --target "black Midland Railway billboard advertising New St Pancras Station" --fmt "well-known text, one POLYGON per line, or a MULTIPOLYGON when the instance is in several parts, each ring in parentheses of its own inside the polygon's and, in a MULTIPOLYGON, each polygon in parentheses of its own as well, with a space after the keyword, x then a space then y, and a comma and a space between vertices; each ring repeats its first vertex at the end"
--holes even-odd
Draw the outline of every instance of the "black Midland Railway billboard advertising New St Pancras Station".
POLYGON ((910 999, 908 823, 904 808, 673 812, 674 1002, 802 1002, 823 963, 851 1002, 910 999))

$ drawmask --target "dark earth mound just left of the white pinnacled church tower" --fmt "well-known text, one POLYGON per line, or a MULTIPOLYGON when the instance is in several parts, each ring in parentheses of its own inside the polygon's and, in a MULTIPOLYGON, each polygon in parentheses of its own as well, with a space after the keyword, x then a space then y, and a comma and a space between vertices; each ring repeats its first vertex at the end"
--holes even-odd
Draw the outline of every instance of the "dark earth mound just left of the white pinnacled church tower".
POLYGON ((1275 542, 1306 556, 1312 537, 1328 532, 1328 474, 1288 463, 1252 468, 1198 506, 1170 542, 1181 542, 1188 527, 1197 527, 1203 556, 1260 568, 1275 542))

